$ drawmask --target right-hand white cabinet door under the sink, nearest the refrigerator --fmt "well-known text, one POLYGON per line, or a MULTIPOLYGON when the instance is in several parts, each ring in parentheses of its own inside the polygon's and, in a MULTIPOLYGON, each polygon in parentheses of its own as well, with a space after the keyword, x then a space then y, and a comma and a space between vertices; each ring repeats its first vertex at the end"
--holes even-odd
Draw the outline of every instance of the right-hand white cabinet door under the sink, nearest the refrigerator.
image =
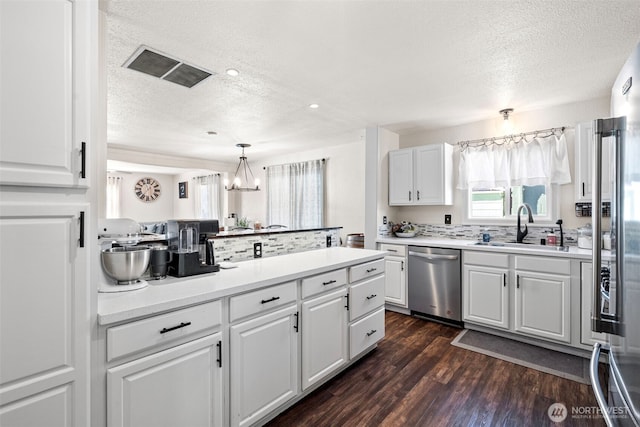
POLYGON ((515 330, 569 342, 570 278, 516 270, 515 330))

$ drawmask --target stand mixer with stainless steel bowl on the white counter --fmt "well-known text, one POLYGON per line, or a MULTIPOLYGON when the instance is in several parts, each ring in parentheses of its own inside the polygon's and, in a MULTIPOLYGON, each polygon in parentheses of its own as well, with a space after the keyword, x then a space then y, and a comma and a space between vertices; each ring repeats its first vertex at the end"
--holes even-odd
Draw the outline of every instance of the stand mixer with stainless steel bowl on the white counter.
POLYGON ((102 275, 98 292, 124 292, 148 285, 141 277, 149 267, 151 250, 140 246, 140 225, 126 218, 98 220, 102 275))

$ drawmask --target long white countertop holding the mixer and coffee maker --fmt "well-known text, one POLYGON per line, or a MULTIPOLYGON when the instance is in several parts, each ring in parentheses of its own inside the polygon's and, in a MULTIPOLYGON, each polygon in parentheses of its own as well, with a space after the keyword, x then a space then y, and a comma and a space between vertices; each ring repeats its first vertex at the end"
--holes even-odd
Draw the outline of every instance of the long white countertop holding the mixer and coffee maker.
POLYGON ((137 317, 215 300, 332 269, 380 259, 384 252, 332 247, 237 263, 237 268, 185 278, 149 281, 143 289, 98 294, 98 324, 137 317))

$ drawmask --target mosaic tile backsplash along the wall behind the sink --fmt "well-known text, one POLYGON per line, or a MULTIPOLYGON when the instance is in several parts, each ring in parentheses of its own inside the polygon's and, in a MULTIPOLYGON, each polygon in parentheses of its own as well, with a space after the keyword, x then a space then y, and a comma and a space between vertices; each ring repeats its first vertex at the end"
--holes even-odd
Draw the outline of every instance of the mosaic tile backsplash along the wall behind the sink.
MULTIPOLYGON (((432 224, 413 224, 417 228, 416 236, 431 237, 434 239, 462 239, 462 240, 482 240, 483 233, 489 233, 491 240, 499 242, 509 242, 516 240, 516 227, 515 225, 500 226, 500 225, 432 225, 432 224)), ((523 225, 524 227, 524 225, 523 225)), ((551 226, 548 227, 529 227, 529 233, 525 237, 526 242, 540 243, 541 239, 547 237, 547 234, 551 230, 551 226)), ((563 228, 564 233, 564 245, 576 246, 578 243, 578 231, 572 228, 563 228)), ((560 229, 558 226, 553 227, 553 232, 556 235, 558 242, 560 242, 560 229)), ((378 236, 391 237, 391 232, 386 226, 381 226, 378 229, 378 236)))

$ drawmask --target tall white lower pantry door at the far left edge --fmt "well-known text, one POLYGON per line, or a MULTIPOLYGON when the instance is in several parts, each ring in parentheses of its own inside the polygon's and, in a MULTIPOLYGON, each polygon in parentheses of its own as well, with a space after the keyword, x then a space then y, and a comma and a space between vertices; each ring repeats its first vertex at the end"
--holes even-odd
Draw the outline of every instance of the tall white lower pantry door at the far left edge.
POLYGON ((88 248, 79 247, 79 216, 88 208, 0 205, 0 405, 22 399, 0 409, 0 425, 19 412, 46 425, 86 424, 88 248))

